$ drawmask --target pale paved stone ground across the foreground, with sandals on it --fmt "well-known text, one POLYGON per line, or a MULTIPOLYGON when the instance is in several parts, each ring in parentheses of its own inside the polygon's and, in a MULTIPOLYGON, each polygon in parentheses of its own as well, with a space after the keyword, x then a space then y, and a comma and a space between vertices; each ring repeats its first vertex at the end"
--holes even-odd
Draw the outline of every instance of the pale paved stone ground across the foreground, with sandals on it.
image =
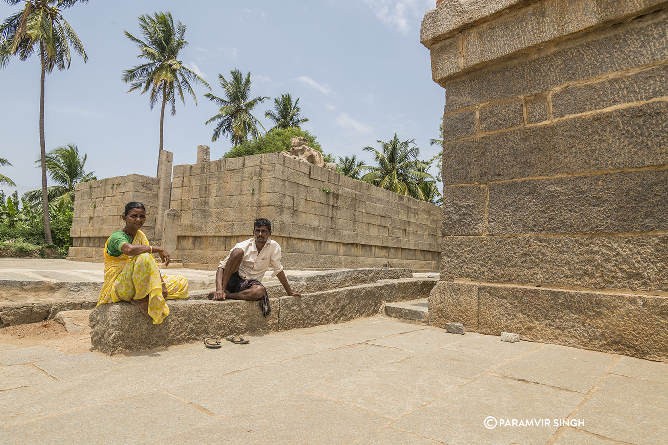
POLYGON ((222 343, 0 344, 0 443, 668 443, 668 364, 383 317, 222 343))

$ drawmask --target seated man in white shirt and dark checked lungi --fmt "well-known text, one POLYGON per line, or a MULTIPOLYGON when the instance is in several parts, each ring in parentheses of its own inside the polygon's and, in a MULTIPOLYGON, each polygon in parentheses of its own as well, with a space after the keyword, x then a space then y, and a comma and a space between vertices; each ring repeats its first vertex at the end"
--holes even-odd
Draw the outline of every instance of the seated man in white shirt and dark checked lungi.
POLYGON ((271 308, 267 291, 260 280, 265 276, 269 266, 274 271, 271 276, 279 278, 288 295, 301 296, 301 294, 293 292, 285 278, 281 265, 281 246, 269 239, 271 221, 267 218, 255 219, 253 236, 236 244, 230 250, 230 254, 218 264, 216 292, 213 293, 213 299, 260 300, 260 308, 266 317, 271 308))

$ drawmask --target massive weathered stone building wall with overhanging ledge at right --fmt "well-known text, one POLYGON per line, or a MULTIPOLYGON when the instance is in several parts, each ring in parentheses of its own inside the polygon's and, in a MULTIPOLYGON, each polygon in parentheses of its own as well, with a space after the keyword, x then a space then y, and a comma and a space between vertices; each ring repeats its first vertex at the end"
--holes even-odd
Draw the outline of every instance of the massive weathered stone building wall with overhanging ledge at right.
POLYGON ((668 361, 665 1, 444 1, 432 324, 668 361))

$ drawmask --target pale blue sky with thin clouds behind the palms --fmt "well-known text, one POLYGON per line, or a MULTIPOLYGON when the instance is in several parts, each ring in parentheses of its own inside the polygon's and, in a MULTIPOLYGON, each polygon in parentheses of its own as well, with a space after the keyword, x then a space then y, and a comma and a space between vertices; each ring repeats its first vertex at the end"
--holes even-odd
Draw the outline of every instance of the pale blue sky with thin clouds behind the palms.
MULTIPOLYGON (((431 79, 429 51, 420 44, 420 22, 434 0, 214 1, 114 0, 76 5, 65 19, 81 39, 88 63, 73 56, 71 68, 47 75, 47 151, 74 143, 88 153, 86 167, 98 177, 154 175, 158 154, 159 106, 148 95, 127 93, 123 69, 141 63, 123 31, 139 36, 136 17, 170 11, 186 25, 189 45, 182 62, 200 73, 222 96, 218 73, 251 71, 253 95, 269 96, 255 115, 269 128, 264 112, 281 93, 301 97, 304 129, 323 151, 370 161, 362 151, 377 139, 415 139, 428 159, 438 153, 445 90, 431 79)), ((19 6, 0 3, 0 19, 19 6)), ((1 172, 19 193, 41 187, 39 168, 39 61, 13 59, 0 70, 0 156, 12 167, 1 172)), ((166 113, 164 149, 174 164, 194 163, 197 145, 209 145, 212 159, 230 149, 229 139, 211 141, 217 113, 196 87, 198 105, 186 99, 176 115, 166 113)), ((432 171, 436 174, 436 171, 432 171)), ((9 187, 3 185, 5 191, 9 187)))

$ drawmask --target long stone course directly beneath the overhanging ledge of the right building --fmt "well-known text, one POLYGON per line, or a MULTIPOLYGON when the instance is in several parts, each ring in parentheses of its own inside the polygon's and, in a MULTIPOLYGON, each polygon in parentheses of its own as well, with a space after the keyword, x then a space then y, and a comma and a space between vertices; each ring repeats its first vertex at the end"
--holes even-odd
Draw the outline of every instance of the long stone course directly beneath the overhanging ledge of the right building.
POLYGON ((494 99, 534 95, 567 82, 668 58, 668 48, 657 44, 668 39, 665 11, 613 26, 610 31, 599 39, 557 47, 536 59, 448 81, 444 85, 446 113, 494 99))

